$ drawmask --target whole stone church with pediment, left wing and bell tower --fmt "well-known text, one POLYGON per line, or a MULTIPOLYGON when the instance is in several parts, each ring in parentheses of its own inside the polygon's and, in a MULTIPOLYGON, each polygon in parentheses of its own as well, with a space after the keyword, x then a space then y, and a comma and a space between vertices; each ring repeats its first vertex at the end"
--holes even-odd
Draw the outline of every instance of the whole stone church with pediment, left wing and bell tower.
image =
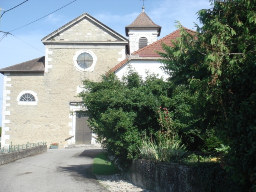
POLYGON ((0 69, 4 75, 2 146, 41 141, 62 148, 96 144, 88 117, 78 113, 82 80, 97 81, 110 69, 121 76, 123 71, 117 70, 132 61, 129 55, 154 44, 161 27, 142 7, 125 32, 129 40, 84 13, 42 38, 45 56, 0 69))

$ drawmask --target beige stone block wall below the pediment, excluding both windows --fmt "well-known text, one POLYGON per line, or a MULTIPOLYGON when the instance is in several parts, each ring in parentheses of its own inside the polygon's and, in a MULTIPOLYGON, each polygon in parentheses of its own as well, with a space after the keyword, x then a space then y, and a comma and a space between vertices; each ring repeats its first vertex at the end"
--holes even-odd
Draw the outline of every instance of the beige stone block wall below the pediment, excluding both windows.
POLYGON ((47 48, 47 72, 44 73, 10 73, 5 92, 6 105, 3 122, 2 146, 23 144, 27 142, 58 142, 60 148, 68 144, 64 141, 74 133, 74 117, 70 115, 70 102, 80 102, 77 98, 82 80, 97 81, 123 59, 124 49, 97 49, 94 46, 84 48, 97 56, 92 72, 78 71, 73 57, 78 50, 74 46, 50 46, 47 48), (93 49, 94 48, 94 49, 93 49), (121 53, 121 54, 120 54, 121 53), (22 91, 33 91, 37 94, 36 105, 19 105, 17 96, 22 91))

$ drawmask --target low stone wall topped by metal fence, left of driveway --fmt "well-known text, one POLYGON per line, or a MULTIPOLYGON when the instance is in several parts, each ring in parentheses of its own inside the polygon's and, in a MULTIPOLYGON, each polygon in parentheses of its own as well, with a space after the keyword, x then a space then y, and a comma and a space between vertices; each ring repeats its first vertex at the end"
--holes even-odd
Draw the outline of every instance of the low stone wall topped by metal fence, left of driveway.
POLYGON ((20 150, 20 151, 0 154, 0 165, 9 163, 30 155, 40 154, 46 151, 47 151, 47 145, 41 145, 41 146, 29 148, 29 149, 20 150))

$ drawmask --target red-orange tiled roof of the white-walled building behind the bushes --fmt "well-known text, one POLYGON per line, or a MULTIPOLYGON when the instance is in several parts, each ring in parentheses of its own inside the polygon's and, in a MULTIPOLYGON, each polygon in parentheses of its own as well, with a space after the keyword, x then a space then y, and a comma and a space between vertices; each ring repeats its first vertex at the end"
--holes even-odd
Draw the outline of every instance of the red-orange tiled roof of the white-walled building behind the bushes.
MULTIPOLYGON (((195 31, 190 30, 188 28, 184 29, 189 32, 189 33, 195 33, 195 31)), ((176 40, 176 38, 178 38, 180 36, 180 29, 177 29, 176 31, 170 33, 169 35, 161 38, 160 40, 157 40, 156 42, 149 44, 148 46, 145 46, 142 49, 139 49, 135 52, 133 52, 131 55, 132 56, 138 56, 140 58, 146 59, 146 57, 159 57, 159 55, 155 52, 155 51, 159 51, 159 52, 164 52, 164 50, 162 49, 162 43, 165 43, 168 46, 173 47, 172 41, 176 40)), ((136 57, 136 58, 138 58, 136 57)), ((118 63, 116 66, 114 66, 111 71, 115 72, 116 70, 118 70, 120 67, 122 67, 123 65, 125 65, 127 62, 129 62, 132 58, 128 58, 125 60, 122 60, 120 63, 118 63)))

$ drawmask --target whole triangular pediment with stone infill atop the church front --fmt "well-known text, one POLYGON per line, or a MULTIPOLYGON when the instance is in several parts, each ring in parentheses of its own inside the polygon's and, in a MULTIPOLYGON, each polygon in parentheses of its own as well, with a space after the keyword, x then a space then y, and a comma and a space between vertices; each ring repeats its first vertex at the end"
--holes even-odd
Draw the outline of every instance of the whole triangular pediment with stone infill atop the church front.
POLYGON ((128 42, 128 39, 84 13, 44 37, 42 42, 128 42))

